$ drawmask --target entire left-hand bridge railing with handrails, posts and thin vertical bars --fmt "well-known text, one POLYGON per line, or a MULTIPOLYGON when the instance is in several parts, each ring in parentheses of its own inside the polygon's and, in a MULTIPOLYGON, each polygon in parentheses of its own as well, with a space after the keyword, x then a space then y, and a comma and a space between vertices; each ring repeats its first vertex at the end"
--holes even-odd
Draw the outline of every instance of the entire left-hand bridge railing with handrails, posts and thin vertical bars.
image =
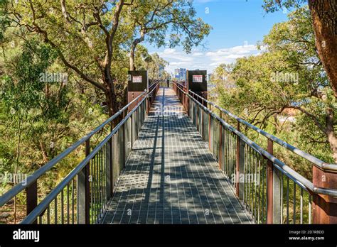
POLYGON ((148 106, 158 89, 159 82, 156 82, 149 92, 139 95, 94 131, 3 194, 0 197, 0 207, 26 190, 27 216, 21 224, 100 222, 107 202, 112 197, 114 185, 144 123, 148 106), (113 126, 114 120, 119 117, 122 117, 122 121, 113 126), (109 128, 107 136, 93 146, 90 138, 101 133, 105 127, 109 128), (38 203, 37 183, 41 176, 82 145, 85 145, 85 158, 38 203))

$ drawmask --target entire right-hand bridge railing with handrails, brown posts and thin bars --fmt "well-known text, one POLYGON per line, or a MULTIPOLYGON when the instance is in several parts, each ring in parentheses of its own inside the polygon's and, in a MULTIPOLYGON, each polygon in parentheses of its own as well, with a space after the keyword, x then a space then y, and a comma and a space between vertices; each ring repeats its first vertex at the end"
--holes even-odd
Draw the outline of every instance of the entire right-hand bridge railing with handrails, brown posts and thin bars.
MULTIPOLYGON (((337 188, 314 185, 291 169, 274 157, 273 143, 281 143, 282 147, 309 160, 315 168, 318 166, 330 172, 335 171, 337 165, 323 163, 314 156, 290 146, 198 94, 187 92, 186 87, 181 84, 173 83, 173 89, 203 140, 208 143, 208 148, 218 160, 219 168, 228 177, 235 194, 258 224, 322 223, 322 215, 318 212, 313 214, 312 205, 317 206, 313 202, 321 197, 331 200, 327 200, 326 203, 334 202, 337 188), (211 110, 212 106, 220 110, 220 116, 211 110), (236 119, 236 128, 224 121, 222 114, 236 119), (240 124, 266 136, 267 150, 241 133, 240 124)), ((318 209, 319 207, 316 207, 317 211, 318 209)), ((327 216, 330 217, 326 215, 323 218, 327 216)))

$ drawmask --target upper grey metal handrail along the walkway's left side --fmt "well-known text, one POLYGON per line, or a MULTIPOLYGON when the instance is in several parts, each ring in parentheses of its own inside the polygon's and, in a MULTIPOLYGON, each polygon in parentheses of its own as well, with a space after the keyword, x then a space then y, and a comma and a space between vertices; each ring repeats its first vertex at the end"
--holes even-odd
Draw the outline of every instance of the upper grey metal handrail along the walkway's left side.
MULTIPOLYGON (((158 82, 156 82, 156 84, 158 84, 158 82)), ((155 88, 156 87, 154 87, 154 89, 155 88)), ((100 126, 98 126, 97 128, 95 128, 93 131, 91 131, 90 133, 88 133, 83 138, 80 138, 80 140, 78 140, 75 143, 73 143, 72 146, 70 146, 69 148, 67 148, 66 150, 64 150, 62 153, 60 153, 59 155, 57 155, 55 158, 53 158, 52 160, 50 160, 48 163, 46 163, 46 165, 43 165, 43 167, 39 168, 38 170, 36 170, 35 172, 33 172, 33 174, 31 174, 28 177, 26 177, 25 180, 23 180, 21 182, 18 182, 18 184, 16 186, 12 187, 6 193, 4 193, 3 195, 1 195, 1 197, 0 197, 0 207, 4 206, 4 204, 6 204, 7 202, 9 202, 10 199, 14 198, 16 196, 16 194, 22 192, 27 187, 29 187, 33 182, 35 182, 36 180, 38 180, 39 177, 41 177, 42 175, 46 174, 46 172, 48 172, 48 170, 50 170, 51 168, 53 168, 53 166, 56 165, 58 162, 60 162, 60 160, 63 160, 63 158, 67 157, 71 152, 73 152, 73 150, 75 150, 80 145, 82 145, 83 143, 85 143, 85 141, 89 140, 93 135, 95 135, 95 133, 97 133, 98 131, 102 130, 102 128, 104 128, 107 124, 110 124, 119 115, 123 114, 123 112, 126 111, 129 106, 132 106, 132 104, 134 104, 135 101, 138 101, 139 98, 144 97, 144 95, 147 96, 148 94, 151 94, 154 91, 154 89, 151 89, 151 92, 144 91, 143 93, 141 93, 138 97, 136 97, 134 100, 132 100, 131 102, 129 102, 129 104, 127 104, 122 109, 120 109, 119 111, 117 111, 116 114, 114 114, 113 116, 109 117, 109 119, 107 119, 106 121, 104 121, 100 126)))

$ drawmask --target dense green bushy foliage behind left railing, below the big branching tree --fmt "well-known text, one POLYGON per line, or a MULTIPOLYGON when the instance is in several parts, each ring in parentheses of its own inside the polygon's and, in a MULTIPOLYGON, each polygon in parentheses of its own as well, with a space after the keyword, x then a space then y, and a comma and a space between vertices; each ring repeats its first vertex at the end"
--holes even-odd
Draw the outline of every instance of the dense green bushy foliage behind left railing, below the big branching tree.
MULTIPOLYGON (((7 182, 1 180, 0 193, 23 179, 21 175, 41 168, 106 119, 95 90, 63 67, 50 45, 34 36, 25 37, 26 41, 22 41, 4 35, 0 44, 0 173, 1 177, 5 174, 13 177, 7 182), (65 81, 48 77, 59 71, 69 73, 62 78, 65 81)), ((39 194, 50 191, 74 168, 81 155, 84 155, 82 147, 65 158, 57 169, 41 177, 39 194)), ((9 216, 6 220, 21 219, 23 202, 22 195, 14 199, 11 215, 14 218, 9 216)))

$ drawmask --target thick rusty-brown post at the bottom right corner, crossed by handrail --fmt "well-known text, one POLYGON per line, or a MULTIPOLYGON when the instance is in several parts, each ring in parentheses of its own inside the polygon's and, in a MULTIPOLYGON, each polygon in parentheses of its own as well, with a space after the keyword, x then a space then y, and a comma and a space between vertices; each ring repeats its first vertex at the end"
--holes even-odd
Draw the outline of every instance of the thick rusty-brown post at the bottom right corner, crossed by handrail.
MULTIPOLYGON (((316 187, 336 190, 337 173, 313 167, 313 183, 316 187)), ((314 224, 337 224, 337 198, 323 194, 314 194, 313 202, 314 224)))

